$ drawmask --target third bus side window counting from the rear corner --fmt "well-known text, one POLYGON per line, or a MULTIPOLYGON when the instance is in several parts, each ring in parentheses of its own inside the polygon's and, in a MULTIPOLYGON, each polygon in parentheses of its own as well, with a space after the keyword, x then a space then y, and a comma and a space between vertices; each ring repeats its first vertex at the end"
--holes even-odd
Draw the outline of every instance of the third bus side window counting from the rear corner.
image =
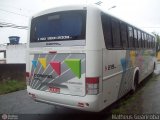
POLYGON ((127 29, 124 22, 120 22, 121 41, 124 49, 128 48, 127 29))

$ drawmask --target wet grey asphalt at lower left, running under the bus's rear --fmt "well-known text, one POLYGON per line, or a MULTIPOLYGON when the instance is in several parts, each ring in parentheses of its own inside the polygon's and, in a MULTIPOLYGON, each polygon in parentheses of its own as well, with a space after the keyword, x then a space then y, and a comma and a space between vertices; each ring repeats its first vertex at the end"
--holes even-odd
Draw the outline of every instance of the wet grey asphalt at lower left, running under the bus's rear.
POLYGON ((28 96, 26 90, 0 95, 0 114, 7 114, 11 117, 15 115, 18 120, 99 120, 107 117, 104 114, 102 116, 102 114, 35 102, 28 96))

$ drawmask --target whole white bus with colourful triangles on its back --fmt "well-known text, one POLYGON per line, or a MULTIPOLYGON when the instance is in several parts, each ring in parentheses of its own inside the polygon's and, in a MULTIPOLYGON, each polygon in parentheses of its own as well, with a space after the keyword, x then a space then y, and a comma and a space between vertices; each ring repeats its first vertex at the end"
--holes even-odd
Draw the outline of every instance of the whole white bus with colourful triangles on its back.
POLYGON ((27 91, 38 102, 98 112, 155 68, 155 37, 95 6, 63 6, 31 19, 27 91))

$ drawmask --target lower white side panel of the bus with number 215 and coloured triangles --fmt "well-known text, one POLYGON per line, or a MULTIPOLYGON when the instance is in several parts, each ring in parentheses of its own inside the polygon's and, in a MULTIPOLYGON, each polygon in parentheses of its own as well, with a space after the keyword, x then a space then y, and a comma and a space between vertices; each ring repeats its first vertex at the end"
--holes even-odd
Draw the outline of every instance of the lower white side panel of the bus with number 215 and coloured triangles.
POLYGON ((105 106, 112 104, 132 89, 136 68, 139 71, 138 83, 153 72, 155 64, 153 53, 153 50, 103 50, 105 106))

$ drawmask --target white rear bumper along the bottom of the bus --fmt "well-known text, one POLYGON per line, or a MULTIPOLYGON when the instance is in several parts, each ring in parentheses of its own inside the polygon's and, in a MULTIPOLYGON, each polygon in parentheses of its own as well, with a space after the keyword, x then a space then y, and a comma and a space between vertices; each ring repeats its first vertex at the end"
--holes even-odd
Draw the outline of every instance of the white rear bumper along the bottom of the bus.
POLYGON ((27 86, 28 94, 37 102, 43 102, 47 104, 59 105, 63 107, 99 112, 101 94, 98 95, 86 95, 86 96, 72 96, 64 94, 56 94, 45 91, 39 91, 27 86))

